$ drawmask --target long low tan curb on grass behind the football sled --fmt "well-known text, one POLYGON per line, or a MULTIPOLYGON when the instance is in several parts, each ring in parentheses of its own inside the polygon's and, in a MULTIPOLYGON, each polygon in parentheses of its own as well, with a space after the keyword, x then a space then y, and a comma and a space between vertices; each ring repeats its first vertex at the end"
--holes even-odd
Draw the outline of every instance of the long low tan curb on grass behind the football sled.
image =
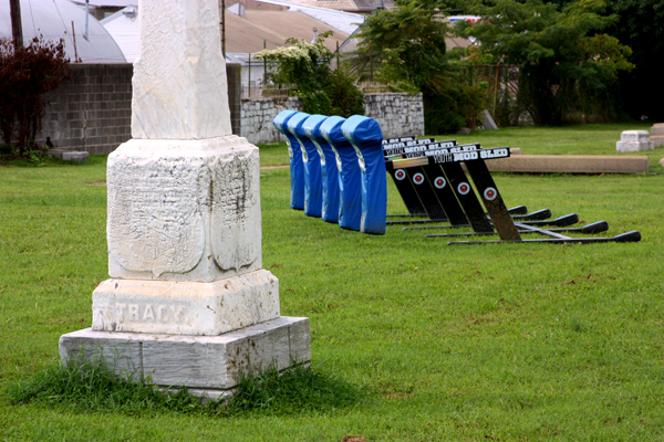
POLYGON ((492 172, 527 173, 634 173, 646 172, 647 157, 594 155, 518 155, 487 161, 492 172))

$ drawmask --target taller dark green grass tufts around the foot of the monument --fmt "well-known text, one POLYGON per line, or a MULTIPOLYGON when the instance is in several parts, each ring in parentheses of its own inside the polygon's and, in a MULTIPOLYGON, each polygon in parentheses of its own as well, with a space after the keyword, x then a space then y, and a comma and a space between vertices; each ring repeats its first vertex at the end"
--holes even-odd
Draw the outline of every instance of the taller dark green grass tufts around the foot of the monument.
POLYGON ((7 390, 12 404, 55 407, 64 411, 108 412, 128 415, 176 412, 185 414, 284 415, 330 412, 356 406, 370 398, 367 391, 323 375, 311 366, 295 365, 279 371, 240 371, 231 396, 218 400, 195 396, 187 388, 160 389, 139 371, 115 373, 104 358, 66 366, 52 364, 30 379, 7 390))

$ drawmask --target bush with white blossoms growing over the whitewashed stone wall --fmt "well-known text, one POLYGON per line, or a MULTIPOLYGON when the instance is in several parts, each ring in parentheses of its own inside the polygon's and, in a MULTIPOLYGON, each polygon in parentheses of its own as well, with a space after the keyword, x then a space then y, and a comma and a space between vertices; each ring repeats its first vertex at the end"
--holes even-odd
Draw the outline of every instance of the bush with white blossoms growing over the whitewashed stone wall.
POLYGON ((288 39, 276 50, 263 50, 257 59, 270 63, 268 78, 274 84, 294 84, 302 99, 302 108, 310 114, 351 115, 364 114, 364 96, 342 70, 332 72, 332 52, 324 41, 332 32, 322 33, 314 43, 288 39))

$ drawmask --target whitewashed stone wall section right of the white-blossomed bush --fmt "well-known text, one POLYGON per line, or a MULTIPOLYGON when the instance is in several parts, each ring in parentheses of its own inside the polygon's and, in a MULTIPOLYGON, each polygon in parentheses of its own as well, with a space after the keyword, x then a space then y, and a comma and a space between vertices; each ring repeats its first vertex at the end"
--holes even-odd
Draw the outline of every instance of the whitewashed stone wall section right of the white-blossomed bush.
POLYGON ((365 115, 378 122, 383 137, 424 135, 422 94, 366 94, 364 102, 365 115))

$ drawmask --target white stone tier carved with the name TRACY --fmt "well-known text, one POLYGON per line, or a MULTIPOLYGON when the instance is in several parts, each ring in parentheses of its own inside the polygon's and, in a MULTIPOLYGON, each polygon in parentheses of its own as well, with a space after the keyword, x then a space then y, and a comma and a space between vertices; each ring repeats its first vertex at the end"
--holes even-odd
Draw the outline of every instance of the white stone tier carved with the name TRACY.
POLYGON ((106 280, 92 294, 95 332, 217 336, 279 317, 279 280, 267 270, 212 283, 106 280))

